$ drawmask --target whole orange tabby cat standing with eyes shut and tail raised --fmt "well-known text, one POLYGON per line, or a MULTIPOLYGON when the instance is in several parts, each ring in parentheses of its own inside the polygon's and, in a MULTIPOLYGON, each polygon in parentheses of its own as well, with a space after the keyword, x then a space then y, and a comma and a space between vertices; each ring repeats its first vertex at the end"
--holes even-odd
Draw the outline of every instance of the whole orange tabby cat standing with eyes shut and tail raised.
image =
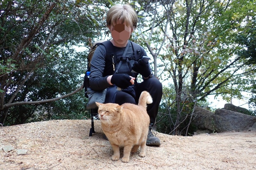
POLYGON ((143 91, 138 105, 124 103, 121 106, 115 103, 101 104, 98 113, 102 130, 108 137, 114 155, 112 160, 119 160, 119 147, 124 147, 122 162, 129 162, 130 152, 135 153, 140 147, 140 157, 146 156, 146 141, 148 136, 149 116, 147 104, 152 103, 150 94, 143 91))

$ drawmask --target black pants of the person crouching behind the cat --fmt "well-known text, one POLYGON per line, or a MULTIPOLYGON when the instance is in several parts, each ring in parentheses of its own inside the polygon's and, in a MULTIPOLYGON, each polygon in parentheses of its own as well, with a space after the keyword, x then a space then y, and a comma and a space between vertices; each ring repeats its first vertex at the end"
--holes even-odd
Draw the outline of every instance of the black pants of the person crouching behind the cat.
POLYGON ((133 98, 130 94, 126 92, 117 91, 115 103, 119 105, 122 105, 124 103, 138 104, 140 93, 143 91, 149 92, 149 94, 153 99, 153 103, 148 104, 147 112, 150 117, 150 123, 155 124, 156 116, 158 113, 158 107, 162 99, 162 93, 163 93, 162 84, 159 82, 157 78, 148 78, 147 80, 144 80, 143 82, 135 85, 134 90, 135 90, 135 98, 133 98))

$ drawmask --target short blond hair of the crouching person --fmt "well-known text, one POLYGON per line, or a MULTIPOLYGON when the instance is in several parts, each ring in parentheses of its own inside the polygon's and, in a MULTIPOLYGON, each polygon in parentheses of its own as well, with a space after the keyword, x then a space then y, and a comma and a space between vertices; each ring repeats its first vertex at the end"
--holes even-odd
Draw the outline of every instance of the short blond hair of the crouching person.
POLYGON ((113 26, 117 23, 117 20, 120 20, 122 24, 125 22, 127 26, 135 29, 138 23, 138 16, 131 5, 115 5, 107 12, 107 26, 113 26))

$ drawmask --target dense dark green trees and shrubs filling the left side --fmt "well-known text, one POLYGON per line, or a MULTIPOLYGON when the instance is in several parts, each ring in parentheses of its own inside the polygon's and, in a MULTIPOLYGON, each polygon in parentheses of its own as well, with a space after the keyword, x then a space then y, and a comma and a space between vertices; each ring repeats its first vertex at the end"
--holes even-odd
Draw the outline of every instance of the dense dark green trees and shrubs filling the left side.
POLYGON ((87 114, 83 92, 52 103, 39 102, 9 109, 4 106, 60 97, 82 84, 88 50, 78 53, 74 47, 88 49, 90 42, 100 37, 105 27, 102 5, 89 1, 1 2, 1 123, 81 119, 87 114))

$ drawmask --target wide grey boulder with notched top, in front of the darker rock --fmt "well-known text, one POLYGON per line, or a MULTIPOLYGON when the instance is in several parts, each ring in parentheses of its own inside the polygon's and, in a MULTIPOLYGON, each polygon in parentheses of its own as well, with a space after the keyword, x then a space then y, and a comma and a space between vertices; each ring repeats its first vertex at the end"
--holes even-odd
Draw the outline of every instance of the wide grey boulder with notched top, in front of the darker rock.
POLYGON ((196 107, 194 125, 197 129, 212 132, 242 131, 253 127, 256 117, 242 113, 217 109, 215 113, 202 107, 196 107))

